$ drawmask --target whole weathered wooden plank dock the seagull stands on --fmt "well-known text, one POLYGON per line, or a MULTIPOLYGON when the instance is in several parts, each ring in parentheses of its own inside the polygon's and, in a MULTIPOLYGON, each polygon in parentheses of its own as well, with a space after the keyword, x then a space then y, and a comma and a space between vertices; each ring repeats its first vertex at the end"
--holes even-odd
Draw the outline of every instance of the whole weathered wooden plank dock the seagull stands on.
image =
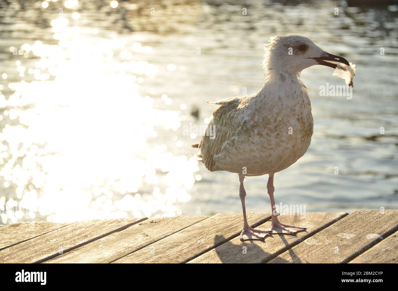
MULTIPOLYGON (((270 213, 248 213, 269 229, 270 213)), ((0 263, 397 263, 398 210, 279 216, 297 236, 239 239, 242 213, 0 227, 0 263)))

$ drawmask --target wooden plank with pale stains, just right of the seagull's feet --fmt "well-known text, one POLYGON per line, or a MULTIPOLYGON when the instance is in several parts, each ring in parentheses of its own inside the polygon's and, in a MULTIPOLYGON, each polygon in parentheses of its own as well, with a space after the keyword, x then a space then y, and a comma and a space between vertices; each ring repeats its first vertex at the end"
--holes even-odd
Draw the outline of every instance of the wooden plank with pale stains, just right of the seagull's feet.
POLYGON ((398 210, 347 215, 269 263, 347 263, 398 229, 398 210))

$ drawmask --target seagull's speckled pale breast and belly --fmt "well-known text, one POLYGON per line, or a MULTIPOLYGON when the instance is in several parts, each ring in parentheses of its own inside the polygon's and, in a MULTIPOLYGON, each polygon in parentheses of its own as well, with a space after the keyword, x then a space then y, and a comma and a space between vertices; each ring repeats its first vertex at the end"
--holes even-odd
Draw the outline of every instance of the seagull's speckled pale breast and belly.
POLYGON ((284 93, 252 101, 241 130, 215 156, 217 169, 248 176, 276 173, 304 155, 313 132, 308 93, 301 86, 284 93))

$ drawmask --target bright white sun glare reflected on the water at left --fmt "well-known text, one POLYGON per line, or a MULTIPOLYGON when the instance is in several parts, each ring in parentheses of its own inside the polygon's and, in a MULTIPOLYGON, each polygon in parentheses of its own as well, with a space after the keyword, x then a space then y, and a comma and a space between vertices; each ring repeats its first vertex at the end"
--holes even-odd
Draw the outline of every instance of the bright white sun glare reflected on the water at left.
POLYGON ((98 29, 89 38, 69 23, 51 21, 58 45, 21 46, 25 59, 16 70, 33 81, 0 87, 12 91, 8 99, 0 91, 0 117, 9 121, 0 133, 0 183, 18 198, 0 197, 2 222, 181 214, 176 202, 191 199, 199 167, 148 143, 157 128, 173 132, 181 121, 177 111, 155 109, 137 92, 157 68, 134 56, 152 48, 100 39, 98 29))

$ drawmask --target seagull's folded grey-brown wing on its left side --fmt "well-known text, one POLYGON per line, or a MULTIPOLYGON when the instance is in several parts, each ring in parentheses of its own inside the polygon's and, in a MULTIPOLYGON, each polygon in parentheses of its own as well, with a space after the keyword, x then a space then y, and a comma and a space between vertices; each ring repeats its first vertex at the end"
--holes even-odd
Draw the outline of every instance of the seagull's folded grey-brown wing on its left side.
POLYGON ((221 105, 213 112, 213 118, 207 126, 199 144, 199 152, 196 157, 202 161, 210 171, 216 171, 214 156, 218 155, 225 142, 236 134, 242 122, 238 120, 239 105, 242 97, 232 97, 216 102, 207 102, 211 105, 221 105))

